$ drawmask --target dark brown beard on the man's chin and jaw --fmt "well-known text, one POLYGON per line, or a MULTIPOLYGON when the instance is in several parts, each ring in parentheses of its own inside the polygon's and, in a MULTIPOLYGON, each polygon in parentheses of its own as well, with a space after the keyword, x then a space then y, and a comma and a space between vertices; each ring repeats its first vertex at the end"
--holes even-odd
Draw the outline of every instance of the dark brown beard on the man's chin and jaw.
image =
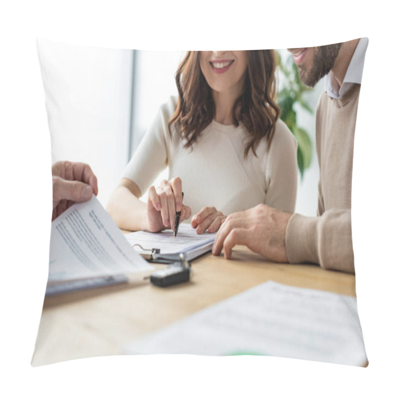
POLYGON ((341 45, 342 43, 336 43, 315 47, 312 67, 306 70, 298 65, 299 77, 303 84, 314 87, 322 77, 330 72, 338 57, 341 45))

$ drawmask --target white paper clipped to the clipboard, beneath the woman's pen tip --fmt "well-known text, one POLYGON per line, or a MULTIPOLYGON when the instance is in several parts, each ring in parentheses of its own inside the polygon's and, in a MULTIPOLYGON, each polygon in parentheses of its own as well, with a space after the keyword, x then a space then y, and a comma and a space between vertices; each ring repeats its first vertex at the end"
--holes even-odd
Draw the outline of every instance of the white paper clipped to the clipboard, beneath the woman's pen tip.
MULTIPOLYGON (((160 233, 149 233, 147 231, 135 231, 125 235, 131 245, 140 244, 145 250, 158 248, 161 254, 179 254, 184 252, 190 254, 199 247, 210 249, 216 237, 216 233, 204 232, 198 234, 196 229, 190 224, 182 223, 179 225, 178 234, 173 235, 172 230, 164 230, 160 233)), ((134 247, 137 252, 142 252, 139 246, 134 247)), ((191 260, 190 256, 187 260, 191 260)))

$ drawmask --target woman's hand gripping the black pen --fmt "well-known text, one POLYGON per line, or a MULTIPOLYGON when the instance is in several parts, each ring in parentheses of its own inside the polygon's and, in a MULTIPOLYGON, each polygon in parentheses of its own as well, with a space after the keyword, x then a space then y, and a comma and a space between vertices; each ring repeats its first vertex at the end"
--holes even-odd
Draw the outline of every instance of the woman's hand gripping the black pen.
POLYGON ((175 230, 176 212, 181 211, 180 221, 191 216, 189 206, 183 205, 182 180, 174 178, 164 180, 160 186, 151 186, 148 191, 147 209, 143 230, 161 231, 166 228, 175 230))

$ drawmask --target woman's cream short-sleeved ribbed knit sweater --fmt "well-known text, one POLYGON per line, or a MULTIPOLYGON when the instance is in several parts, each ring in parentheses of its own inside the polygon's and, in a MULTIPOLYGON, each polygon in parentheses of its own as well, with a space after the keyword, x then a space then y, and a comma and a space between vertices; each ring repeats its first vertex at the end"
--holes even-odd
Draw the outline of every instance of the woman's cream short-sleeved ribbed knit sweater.
POLYGON ((212 121, 193 148, 184 143, 168 123, 176 98, 163 104, 123 177, 135 182, 144 194, 162 170, 169 166, 169 179, 183 182, 184 204, 192 214, 214 206, 223 214, 248 209, 259 203, 293 212, 297 190, 297 143, 287 126, 278 120, 270 150, 266 139, 244 158, 249 134, 243 125, 212 121))

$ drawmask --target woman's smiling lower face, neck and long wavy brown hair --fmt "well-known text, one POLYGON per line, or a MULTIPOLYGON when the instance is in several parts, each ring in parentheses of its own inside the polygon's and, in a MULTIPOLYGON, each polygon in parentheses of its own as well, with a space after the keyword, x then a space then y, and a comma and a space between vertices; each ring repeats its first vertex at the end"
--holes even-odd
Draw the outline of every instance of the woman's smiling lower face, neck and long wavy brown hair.
POLYGON ((255 154, 262 138, 270 145, 280 115, 275 69, 274 50, 189 51, 176 74, 179 103, 169 127, 178 122, 189 147, 212 120, 241 123, 249 134, 244 155, 255 154), (230 64, 215 67, 223 61, 230 64))

